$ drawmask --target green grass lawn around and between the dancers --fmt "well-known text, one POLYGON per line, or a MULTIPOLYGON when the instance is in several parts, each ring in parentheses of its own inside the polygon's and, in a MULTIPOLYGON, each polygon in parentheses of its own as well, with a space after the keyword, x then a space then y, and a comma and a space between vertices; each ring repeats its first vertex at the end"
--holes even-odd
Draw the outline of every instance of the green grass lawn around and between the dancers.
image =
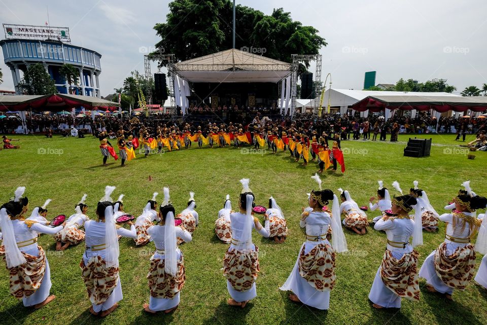
MULTIPOLYGON (((392 182, 398 180, 406 194, 414 179, 429 196, 441 214, 470 179, 472 189, 487 195, 487 153, 475 153, 468 160, 462 142, 455 135, 433 135, 431 157, 403 157, 408 135, 400 135, 399 143, 381 141, 343 141, 346 171, 324 172, 324 188, 337 193, 338 188, 349 190, 359 205, 366 205, 375 196, 377 180, 384 180, 391 196, 397 194, 392 182)), ((429 138, 429 135, 422 137, 429 138)), ((14 138, 18 138, 15 136, 14 138)), ((467 137, 471 141, 473 135, 467 137)), ((114 141, 115 142, 115 141, 114 141)), ((48 219, 63 213, 71 215, 83 193, 88 194, 88 215, 95 218, 94 208, 103 196, 106 185, 116 186, 113 197, 124 193, 125 211, 139 215, 153 192, 171 190, 171 200, 177 212, 186 207, 189 191, 196 193, 200 225, 193 241, 180 248, 185 255, 186 285, 181 292, 180 308, 168 315, 147 315, 142 305, 149 300, 146 275, 154 245, 136 248, 133 240, 120 240, 120 276, 124 299, 120 307, 105 319, 90 316, 86 288, 81 278, 79 262, 84 244, 64 252, 54 249, 49 235, 39 240, 51 266, 51 293, 55 302, 37 311, 23 307, 9 295, 8 273, 0 262, 0 323, 2 324, 485 324, 487 319, 487 291, 470 282, 464 292, 455 292, 454 301, 428 293, 421 280, 421 301, 404 301, 400 310, 375 310, 368 301, 373 278, 384 255, 386 236, 373 229, 365 236, 344 230, 349 252, 337 255, 337 282, 331 292, 329 311, 320 311, 288 300, 279 290, 291 272, 305 237, 299 228, 301 207, 306 205, 306 192, 317 189, 310 178, 318 169, 316 163, 307 167, 293 162, 289 152, 272 155, 271 151, 243 154, 239 149, 197 149, 154 154, 137 158, 120 168, 119 162, 109 159, 110 166, 101 166, 98 140, 43 136, 20 136, 20 150, 0 151, 0 202, 7 202, 18 186, 26 186, 31 210, 47 198, 48 219), (42 154, 42 152, 47 152, 42 154), (256 203, 266 205, 274 196, 288 221, 290 234, 284 244, 275 244, 254 233, 259 246, 261 272, 257 279, 257 298, 245 309, 226 305, 229 295, 222 273, 222 259, 228 245, 215 235, 218 210, 230 194, 233 207, 241 191, 240 178, 251 179, 250 188, 256 203), (483 319, 483 320, 482 320, 483 319)), ((15 143, 17 144, 17 143, 15 143)), ((339 168, 338 168, 339 169, 339 168)), ((484 211, 481 211, 484 212, 484 211)), ((369 212, 369 219, 378 215, 369 212)), ((263 218, 261 217, 261 222, 263 218)), ((424 233, 425 244, 418 247, 419 265, 444 238, 444 225, 438 233, 424 233)), ((477 255, 477 265, 482 256, 477 255)))

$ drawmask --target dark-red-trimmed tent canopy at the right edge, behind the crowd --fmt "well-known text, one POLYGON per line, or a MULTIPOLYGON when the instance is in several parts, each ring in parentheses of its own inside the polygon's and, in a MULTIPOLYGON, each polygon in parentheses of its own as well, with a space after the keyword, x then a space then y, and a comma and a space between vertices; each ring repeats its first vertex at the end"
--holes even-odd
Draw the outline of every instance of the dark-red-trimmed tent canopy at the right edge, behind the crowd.
POLYGON ((473 112, 483 112, 487 110, 487 97, 474 96, 435 96, 435 95, 421 95, 414 96, 409 94, 404 95, 373 95, 355 103, 351 107, 353 110, 363 112, 370 110, 371 112, 379 112, 388 108, 390 110, 418 110, 428 111, 435 110, 436 112, 444 113, 448 111, 466 112, 471 110, 473 112))

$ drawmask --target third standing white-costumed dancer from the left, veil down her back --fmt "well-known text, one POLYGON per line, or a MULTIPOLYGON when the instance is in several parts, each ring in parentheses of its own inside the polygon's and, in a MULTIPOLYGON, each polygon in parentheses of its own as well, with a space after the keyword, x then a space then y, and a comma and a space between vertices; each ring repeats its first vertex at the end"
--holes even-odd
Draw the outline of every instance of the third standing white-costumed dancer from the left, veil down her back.
MULTIPOLYGON (((166 193, 167 199, 164 202, 169 202, 169 188, 164 188, 164 196, 166 193)), ((151 267, 147 275, 151 297, 149 303, 144 304, 144 310, 154 314, 158 311, 167 314, 178 308, 179 294, 186 281, 186 273, 183 252, 178 248, 177 238, 182 238, 185 242, 191 241, 191 234, 187 230, 175 226, 175 210, 172 204, 163 204, 159 207, 161 222, 148 230, 156 251, 151 257, 151 267)))

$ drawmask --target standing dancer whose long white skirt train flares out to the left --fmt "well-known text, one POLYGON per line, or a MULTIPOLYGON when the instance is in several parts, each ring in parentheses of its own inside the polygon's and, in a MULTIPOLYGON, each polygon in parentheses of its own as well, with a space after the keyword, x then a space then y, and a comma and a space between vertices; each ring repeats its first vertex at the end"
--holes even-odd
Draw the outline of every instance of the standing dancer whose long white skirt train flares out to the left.
POLYGON ((306 241, 299 250, 299 255, 288 279, 281 286, 283 291, 291 291, 289 299, 318 309, 330 307, 330 291, 335 276, 335 252, 344 252, 346 240, 340 224, 338 197, 331 190, 323 190, 318 174, 312 176, 319 191, 312 191, 299 225, 306 228, 306 241), (323 211, 323 207, 333 200, 332 215, 323 211), (327 239, 328 229, 332 228, 333 248, 327 239))

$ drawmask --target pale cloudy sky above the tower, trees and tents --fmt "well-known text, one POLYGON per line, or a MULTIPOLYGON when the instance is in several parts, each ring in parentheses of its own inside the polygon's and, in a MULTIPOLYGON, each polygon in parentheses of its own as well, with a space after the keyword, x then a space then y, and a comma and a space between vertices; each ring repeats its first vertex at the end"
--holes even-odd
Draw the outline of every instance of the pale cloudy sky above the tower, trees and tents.
MULTIPOLYGON (((0 21, 44 25, 48 5, 51 26, 69 27, 73 44, 101 53, 100 86, 105 96, 121 87, 131 70, 144 70, 140 49, 159 41, 153 26, 165 21, 168 3, 0 0, 0 21)), ((444 78, 457 92, 487 83, 487 2, 482 0, 237 0, 237 4, 265 14, 282 7, 294 20, 316 27, 328 42, 321 50, 322 80, 331 73, 333 88, 362 89, 364 73, 370 70, 377 71, 376 83, 444 78)), ((1 53, 0 89, 13 89, 1 53)))

